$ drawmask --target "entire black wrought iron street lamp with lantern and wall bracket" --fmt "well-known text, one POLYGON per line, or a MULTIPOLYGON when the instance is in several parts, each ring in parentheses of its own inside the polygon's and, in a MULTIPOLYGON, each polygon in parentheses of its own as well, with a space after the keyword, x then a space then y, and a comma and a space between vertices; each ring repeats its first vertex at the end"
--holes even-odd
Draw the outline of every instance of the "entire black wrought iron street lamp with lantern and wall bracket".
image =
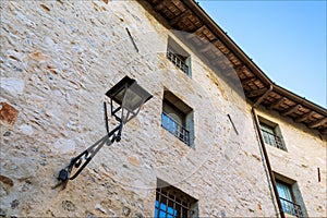
POLYGON ((104 102, 107 135, 76 157, 73 157, 69 166, 60 170, 58 180, 60 181, 59 184, 63 184, 63 189, 66 186, 69 180, 74 180, 81 173, 105 144, 109 146, 114 142, 120 142, 123 125, 135 118, 141 107, 153 97, 135 80, 129 76, 118 82, 106 93, 106 96, 110 98, 111 116, 116 118, 119 124, 109 132, 107 104, 104 102), (71 175, 74 168, 76 170, 71 175))

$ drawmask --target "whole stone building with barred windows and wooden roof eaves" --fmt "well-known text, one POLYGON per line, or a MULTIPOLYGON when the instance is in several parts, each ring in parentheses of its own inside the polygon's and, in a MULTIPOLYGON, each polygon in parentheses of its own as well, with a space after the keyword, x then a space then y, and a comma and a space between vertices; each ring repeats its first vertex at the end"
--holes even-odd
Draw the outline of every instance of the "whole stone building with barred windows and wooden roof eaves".
POLYGON ((1 216, 279 217, 286 186, 326 216, 326 109, 268 87, 194 1, 2 1, 0 61, 1 216), (56 186, 125 75, 153 98, 56 186))

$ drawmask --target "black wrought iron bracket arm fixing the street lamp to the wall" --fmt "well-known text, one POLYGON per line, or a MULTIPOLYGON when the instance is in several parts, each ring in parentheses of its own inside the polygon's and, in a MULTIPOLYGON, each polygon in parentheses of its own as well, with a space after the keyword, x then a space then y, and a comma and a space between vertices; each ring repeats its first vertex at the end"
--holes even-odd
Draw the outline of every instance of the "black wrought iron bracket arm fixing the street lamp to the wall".
POLYGON ((85 149, 83 153, 77 155, 76 157, 73 157, 69 164, 68 167, 63 168, 59 172, 58 180, 60 180, 63 183, 63 189, 66 186, 66 183, 69 180, 74 180, 82 170, 86 167, 86 165, 92 160, 92 158, 101 149, 101 147, 107 144, 110 146, 111 144, 116 142, 119 142, 121 136, 123 124, 120 123, 117 128, 114 128, 110 133, 105 135, 102 138, 97 141, 95 144, 89 146, 87 149, 85 149), (114 134, 118 132, 118 134, 114 134), (111 138, 110 138, 111 137, 111 138), (85 160, 83 160, 85 158, 85 160), (82 162, 84 164, 82 165, 82 162), (76 168, 77 171, 71 177, 71 172, 73 168, 76 168))

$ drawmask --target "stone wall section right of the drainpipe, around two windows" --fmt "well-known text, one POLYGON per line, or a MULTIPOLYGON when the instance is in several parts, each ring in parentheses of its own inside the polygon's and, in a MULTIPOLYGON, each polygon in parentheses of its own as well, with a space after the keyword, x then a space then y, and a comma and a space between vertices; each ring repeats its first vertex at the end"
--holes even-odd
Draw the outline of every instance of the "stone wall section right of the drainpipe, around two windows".
POLYGON ((326 135, 264 108, 258 116, 278 124, 286 144, 287 152, 266 145, 272 170, 296 182, 294 194, 306 216, 324 217, 327 213, 326 135))

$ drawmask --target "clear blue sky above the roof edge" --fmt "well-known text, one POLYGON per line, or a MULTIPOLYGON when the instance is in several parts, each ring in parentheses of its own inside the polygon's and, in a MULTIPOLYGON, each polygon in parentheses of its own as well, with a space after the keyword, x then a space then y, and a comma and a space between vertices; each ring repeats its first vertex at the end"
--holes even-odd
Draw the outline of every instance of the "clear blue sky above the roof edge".
POLYGON ((327 108, 327 1, 196 0, 277 85, 327 108))

